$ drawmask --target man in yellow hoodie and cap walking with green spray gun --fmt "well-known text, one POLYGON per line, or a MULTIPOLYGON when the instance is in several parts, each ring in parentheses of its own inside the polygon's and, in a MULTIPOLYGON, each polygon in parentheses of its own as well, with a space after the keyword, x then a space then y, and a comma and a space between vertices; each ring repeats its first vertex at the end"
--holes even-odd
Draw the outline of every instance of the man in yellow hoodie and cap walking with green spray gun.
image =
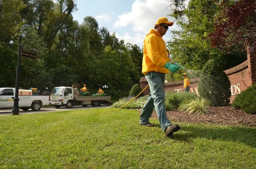
POLYGON ((142 60, 142 73, 148 81, 150 93, 140 115, 140 124, 153 126, 148 120, 155 107, 160 126, 166 135, 172 135, 180 129, 180 126, 172 125, 167 119, 164 98, 165 74, 169 70, 173 73, 179 70, 178 66, 169 63, 166 45, 162 39, 172 25, 173 22, 169 22, 167 18, 159 18, 156 21, 155 29, 150 29, 144 40, 142 60))

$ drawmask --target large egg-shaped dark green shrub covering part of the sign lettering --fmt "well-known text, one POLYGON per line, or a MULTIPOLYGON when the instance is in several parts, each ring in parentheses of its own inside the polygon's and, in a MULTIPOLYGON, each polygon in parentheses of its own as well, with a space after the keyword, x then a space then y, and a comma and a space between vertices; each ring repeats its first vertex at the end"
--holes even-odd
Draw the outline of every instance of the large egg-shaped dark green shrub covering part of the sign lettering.
POLYGON ((199 77, 199 95, 211 100, 212 106, 225 106, 230 102, 230 82, 220 65, 214 59, 209 60, 199 77))

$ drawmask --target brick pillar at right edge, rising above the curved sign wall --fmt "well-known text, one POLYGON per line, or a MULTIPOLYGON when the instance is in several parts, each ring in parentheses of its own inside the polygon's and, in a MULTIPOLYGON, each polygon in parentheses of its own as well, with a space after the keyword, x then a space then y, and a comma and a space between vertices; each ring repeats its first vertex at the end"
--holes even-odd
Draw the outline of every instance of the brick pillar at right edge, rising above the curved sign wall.
POLYGON ((248 61, 248 71, 252 81, 252 85, 256 83, 256 54, 255 51, 250 50, 250 43, 247 41, 247 61, 248 61))

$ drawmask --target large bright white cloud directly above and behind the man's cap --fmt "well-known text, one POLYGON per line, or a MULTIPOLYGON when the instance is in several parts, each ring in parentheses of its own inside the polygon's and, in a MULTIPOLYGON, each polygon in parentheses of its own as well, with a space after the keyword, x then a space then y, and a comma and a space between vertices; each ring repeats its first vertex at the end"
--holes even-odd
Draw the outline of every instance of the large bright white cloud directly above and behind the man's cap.
MULTIPOLYGON (((166 0, 136 0, 132 4, 131 11, 119 15, 113 27, 132 25, 135 33, 147 34, 150 28, 154 28, 158 18, 167 17, 169 21, 174 20, 174 18, 167 16, 170 13, 169 10, 170 7, 166 0)), ((175 22, 170 29, 178 29, 175 22)))

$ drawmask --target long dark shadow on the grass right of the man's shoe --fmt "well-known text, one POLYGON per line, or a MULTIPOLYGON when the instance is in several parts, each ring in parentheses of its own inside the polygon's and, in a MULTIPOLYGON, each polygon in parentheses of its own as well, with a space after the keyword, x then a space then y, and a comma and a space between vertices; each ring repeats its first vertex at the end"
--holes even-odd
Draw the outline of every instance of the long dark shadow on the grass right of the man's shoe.
POLYGON ((194 138, 205 138, 209 140, 221 140, 244 143, 256 147, 256 128, 247 127, 218 127, 216 129, 204 128, 204 126, 182 126, 180 131, 170 136, 171 139, 190 142, 194 138))

